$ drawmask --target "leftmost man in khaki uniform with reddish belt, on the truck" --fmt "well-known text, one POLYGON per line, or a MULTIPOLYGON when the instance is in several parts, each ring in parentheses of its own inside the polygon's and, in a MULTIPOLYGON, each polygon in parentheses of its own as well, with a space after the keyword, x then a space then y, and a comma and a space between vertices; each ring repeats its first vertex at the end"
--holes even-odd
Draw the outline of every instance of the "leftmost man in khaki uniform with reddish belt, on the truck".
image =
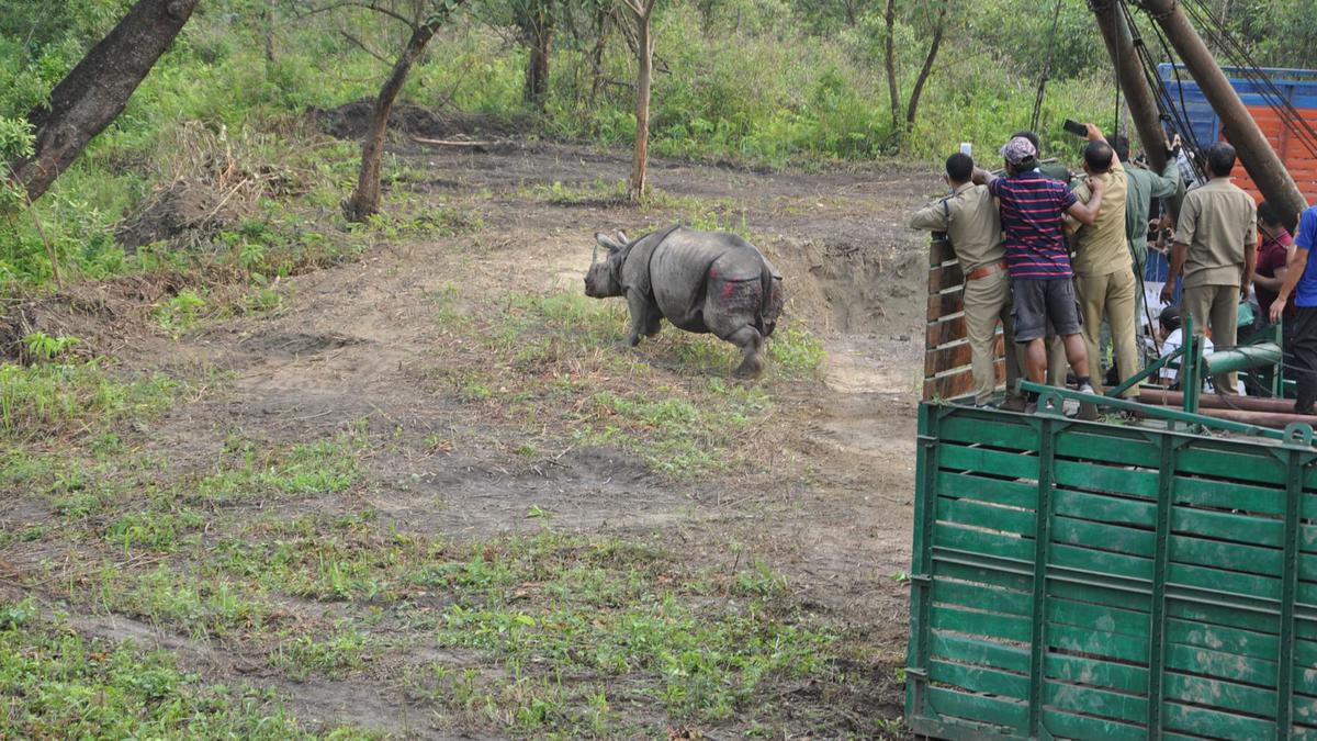
POLYGON ((947 158, 947 183, 952 193, 910 218, 910 227, 947 232, 956 260, 965 274, 965 334, 969 338, 975 403, 992 401, 997 389, 997 322, 1006 335, 1006 403, 1022 410, 1025 401, 1015 393, 1019 378, 1014 328, 1011 326, 1010 277, 1006 251, 1001 244, 1001 215, 988 186, 971 182, 975 161, 967 154, 947 158))

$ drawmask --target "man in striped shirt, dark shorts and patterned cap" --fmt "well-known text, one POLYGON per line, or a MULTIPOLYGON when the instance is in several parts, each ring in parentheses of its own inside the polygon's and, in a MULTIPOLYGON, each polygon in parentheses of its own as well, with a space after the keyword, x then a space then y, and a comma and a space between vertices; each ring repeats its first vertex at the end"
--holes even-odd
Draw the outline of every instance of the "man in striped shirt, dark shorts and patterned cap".
MULTIPOLYGON (((1102 182, 1089 178, 1092 198, 1080 203, 1064 185, 1036 171, 1038 149, 1025 137, 1010 140, 1001 149, 1006 160, 1006 177, 997 178, 976 170, 976 181, 988 185, 1001 204, 1002 241, 1015 299, 1015 343, 1025 349, 1025 369, 1030 381, 1042 384, 1047 377, 1047 349, 1043 338, 1047 326, 1064 339, 1065 359, 1077 377, 1080 392, 1093 393, 1089 378, 1088 348, 1080 334, 1079 306, 1075 299, 1075 273, 1062 228, 1069 214, 1081 224, 1092 224, 1102 207, 1102 182)), ((1097 410, 1083 405, 1080 414, 1094 418, 1097 410)))

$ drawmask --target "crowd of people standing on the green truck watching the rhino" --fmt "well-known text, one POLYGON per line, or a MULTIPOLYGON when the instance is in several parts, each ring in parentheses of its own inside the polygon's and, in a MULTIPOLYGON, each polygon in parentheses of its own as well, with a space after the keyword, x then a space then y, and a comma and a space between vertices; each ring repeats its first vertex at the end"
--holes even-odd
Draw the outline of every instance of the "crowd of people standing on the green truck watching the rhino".
MULTIPOLYGON (((1259 326, 1280 323, 1287 374, 1297 380, 1296 410, 1313 413, 1317 266, 1309 261, 1317 261, 1317 207, 1285 215, 1258 204, 1233 182, 1237 157, 1226 142, 1201 153, 1205 182, 1187 183, 1177 140, 1160 142, 1167 163, 1154 171, 1130 160, 1126 137, 1108 138, 1093 124, 1085 129, 1081 175, 1042 162, 1038 136, 1019 132, 1001 148, 1004 174, 976 166, 967 152, 948 157, 948 195, 910 220, 944 232, 964 273, 975 403, 1030 410, 1038 398, 1017 390, 1022 377, 1072 382, 1085 393, 1125 385, 1142 372, 1148 347, 1163 356, 1180 347, 1184 318, 1209 351, 1234 347, 1241 315, 1252 315, 1241 306, 1255 302, 1259 326), (1285 228, 1289 218, 1299 223, 1297 237, 1285 228), (1151 297, 1163 306, 1144 336, 1150 249, 1166 252, 1169 273, 1160 297, 1151 297), (998 326, 1008 349, 1001 401, 998 326)), ((1184 382, 1175 370, 1156 376, 1163 385, 1184 382)), ((1243 390, 1234 373, 1214 376, 1209 388, 1243 390)), ((1125 390, 1126 398, 1138 396, 1138 384, 1125 390)), ((1081 418, 1097 414, 1093 405, 1079 407, 1081 418)))

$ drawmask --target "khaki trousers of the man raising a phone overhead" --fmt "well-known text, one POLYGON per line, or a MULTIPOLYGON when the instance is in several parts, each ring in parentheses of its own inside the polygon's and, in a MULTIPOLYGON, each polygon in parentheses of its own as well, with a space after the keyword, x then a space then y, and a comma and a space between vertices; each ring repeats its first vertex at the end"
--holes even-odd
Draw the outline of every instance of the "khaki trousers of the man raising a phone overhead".
MULTIPOLYGON (((1093 378, 1093 389, 1102 393, 1102 318, 1112 326, 1112 345, 1115 349, 1115 367, 1121 380, 1133 377, 1143 369, 1139 360, 1138 326, 1134 323, 1138 285, 1134 273, 1117 270, 1106 276, 1075 276, 1075 294, 1079 297, 1079 310, 1084 316, 1084 344, 1088 345, 1088 369, 1093 378)), ((1139 396, 1137 388, 1125 392, 1125 398, 1139 396)))

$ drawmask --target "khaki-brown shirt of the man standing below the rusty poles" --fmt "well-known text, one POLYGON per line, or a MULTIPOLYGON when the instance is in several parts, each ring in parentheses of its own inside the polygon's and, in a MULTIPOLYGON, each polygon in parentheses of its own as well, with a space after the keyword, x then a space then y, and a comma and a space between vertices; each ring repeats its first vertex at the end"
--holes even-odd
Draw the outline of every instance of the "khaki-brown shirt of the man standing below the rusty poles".
POLYGON ((1238 286, 1245 247, 1258 245, 1258 204, 1229 178, 1208 181, 1185 194, 1175 241, 1189 245, 1185 287, 1238 286))

